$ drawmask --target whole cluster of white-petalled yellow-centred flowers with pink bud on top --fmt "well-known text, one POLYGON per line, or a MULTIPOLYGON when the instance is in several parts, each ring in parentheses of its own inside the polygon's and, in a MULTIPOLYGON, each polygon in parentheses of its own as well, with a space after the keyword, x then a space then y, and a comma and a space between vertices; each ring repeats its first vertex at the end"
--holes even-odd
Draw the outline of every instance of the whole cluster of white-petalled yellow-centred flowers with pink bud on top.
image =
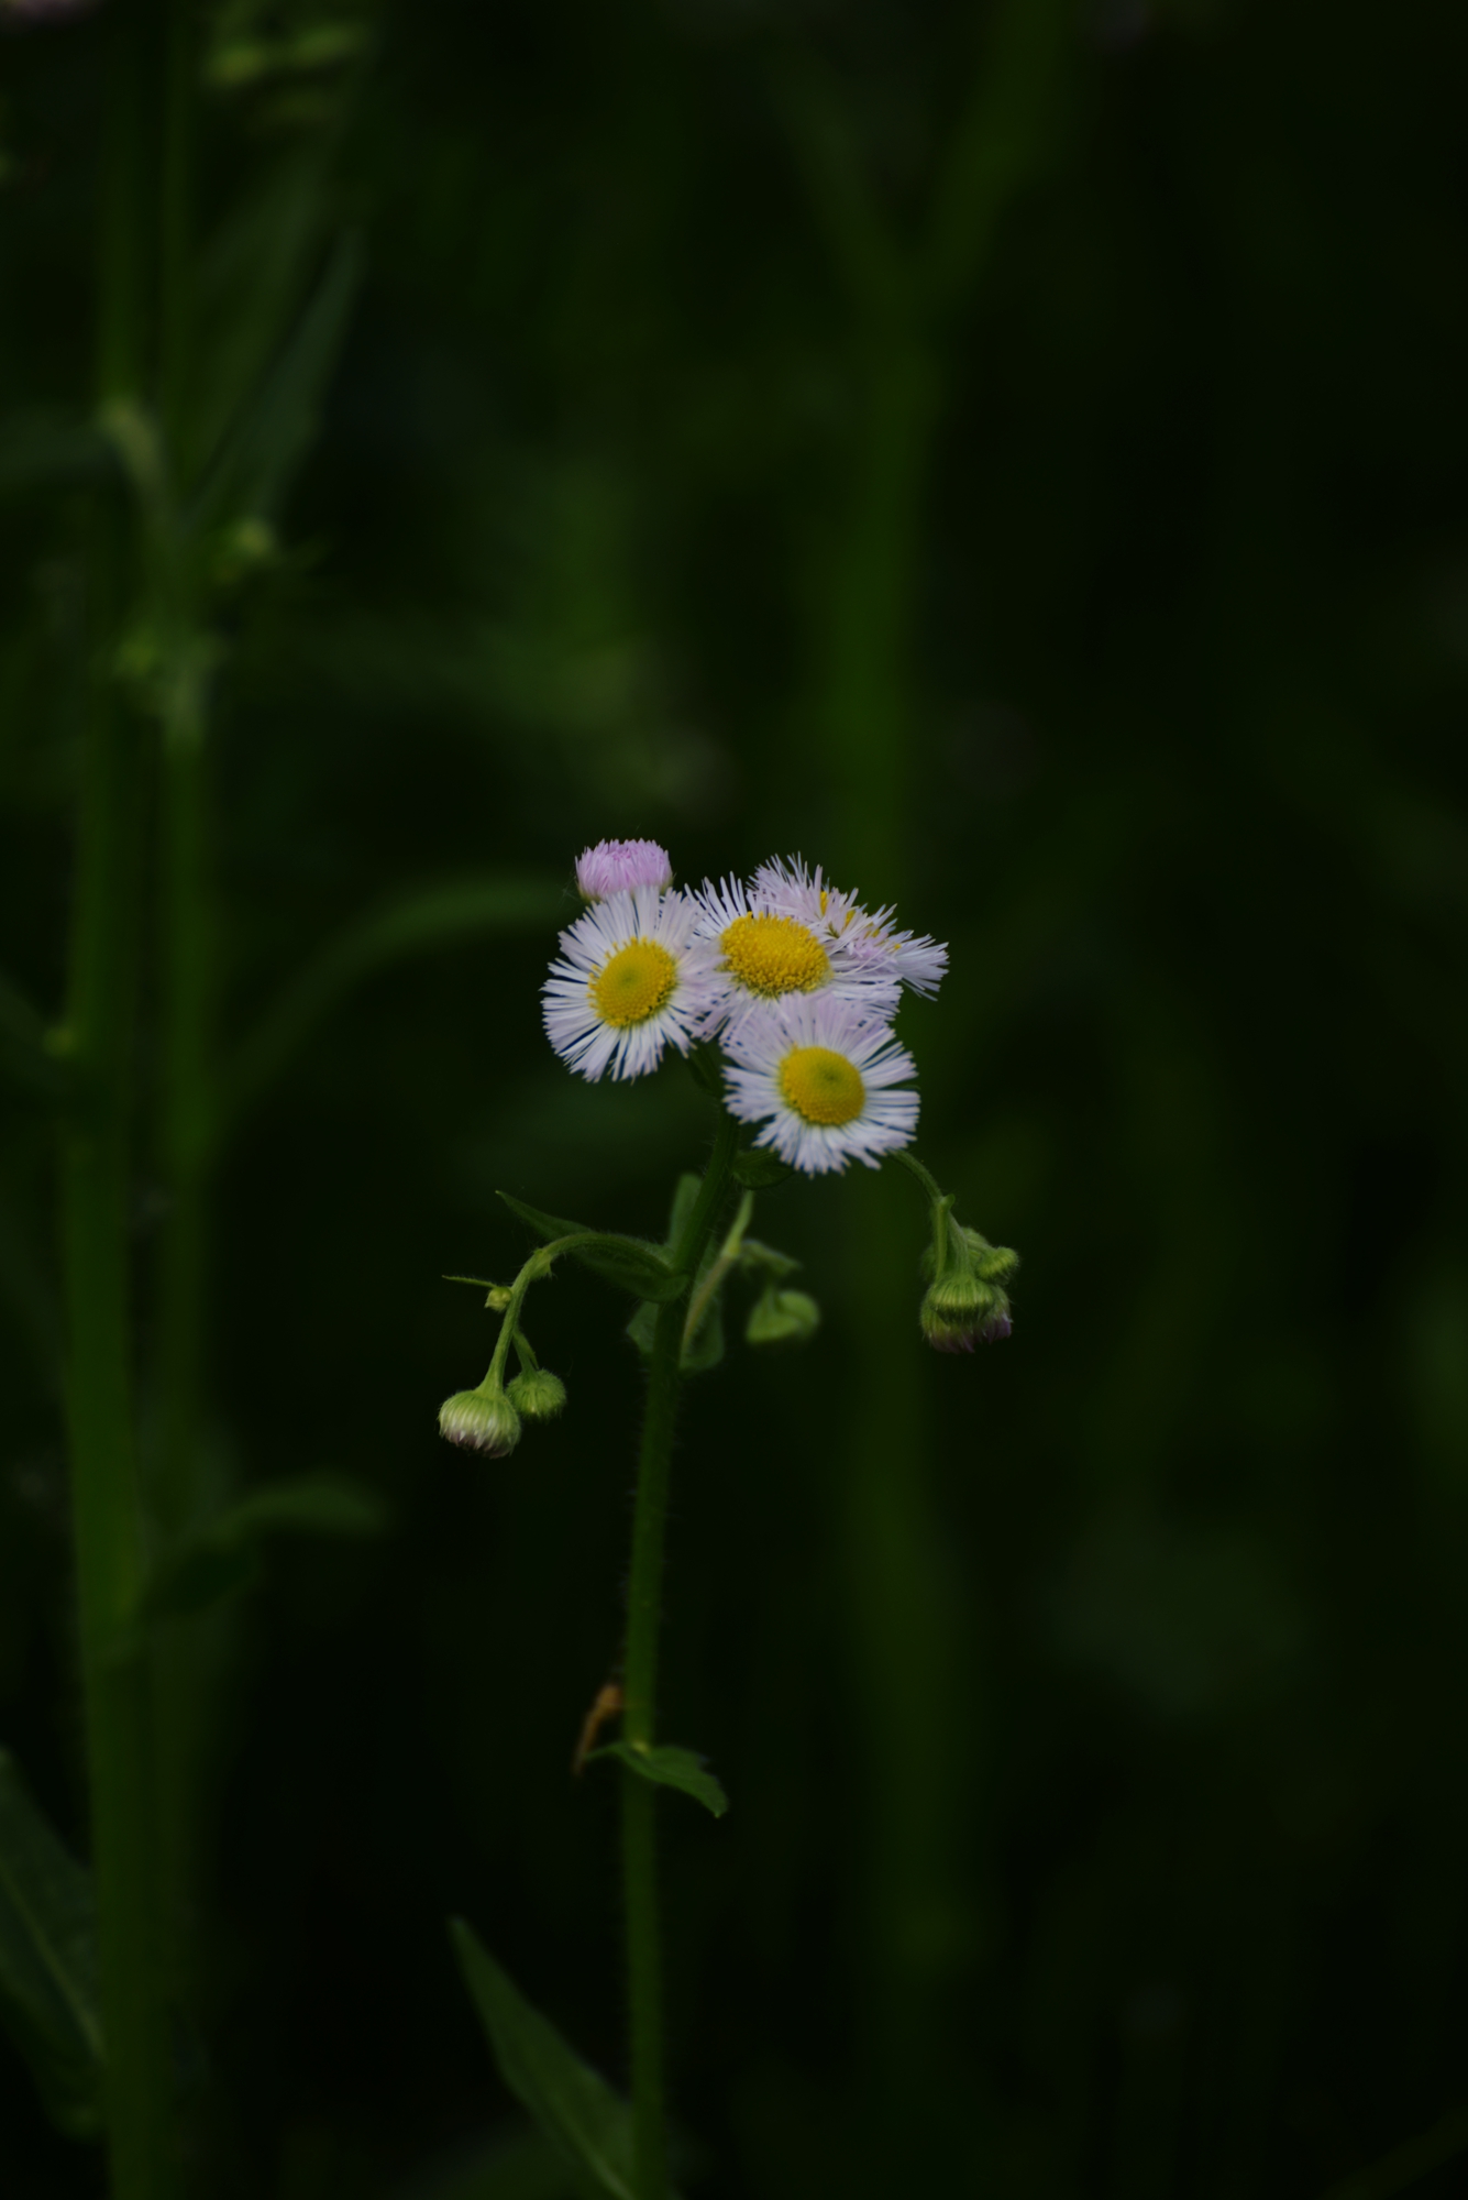
POLYGON ((877 1166, 912 1142, 903 990, 932 994, 947 948, 897 931, 796 858, 752 880, 672 887, 653 840, 602 840, 576 865, 587 911, 560 935, 545 1030, 585 1078, 640 1078, 666 1047, 716 1043, 725 1100, 807 1175, 877 1166))

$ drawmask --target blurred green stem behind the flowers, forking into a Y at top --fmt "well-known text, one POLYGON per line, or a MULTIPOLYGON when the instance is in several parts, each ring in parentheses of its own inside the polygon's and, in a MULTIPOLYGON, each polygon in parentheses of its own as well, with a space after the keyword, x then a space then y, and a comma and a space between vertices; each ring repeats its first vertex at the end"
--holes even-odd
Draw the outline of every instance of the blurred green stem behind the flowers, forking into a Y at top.
MULTIPOLYGON (((1002 0, 985 26, 969 99, 938 161, 919 233, 903 235, 861 158, 835 77, 796 57, 778 92, 811 213, 850 315, 857 383, 850 484, 828 530, 815 634, 815 719, 835 794, 835 860, 877 900, 899 900, 912 790, 925 788, 912 629, 925 497, 956 315, 998 227, 1042 169, 1070 44, 1072 0, 1002 0)), ((936 1190, 936 1188, 934 1188, 936 1190)), ((892 2103, 872 2187, 927 2189, 949 2114, 941 2075, 941 1982, 963 1960, 967 1888, 952 1736, 965 1727, 958 1615, 947 1593, 916 1353, 910 1241, 890 1181, 857 1201, 864 1289, 853 1300, 859 1410, 839 1503, 855 1679, 870 1747, 870 2042, 892 2103), (930 2149, 927 2154, 923 2149, 930 2149)), ((855 1265, 855 1263, 853 1263, 855 1265)))

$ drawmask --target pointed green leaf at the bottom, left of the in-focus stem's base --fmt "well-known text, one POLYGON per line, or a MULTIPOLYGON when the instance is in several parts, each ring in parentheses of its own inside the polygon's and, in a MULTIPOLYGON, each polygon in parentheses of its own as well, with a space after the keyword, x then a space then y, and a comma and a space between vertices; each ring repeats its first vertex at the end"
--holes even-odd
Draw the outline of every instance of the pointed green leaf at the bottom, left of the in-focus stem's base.
POLYGON ((633 2116, 622 2094, 523 1998, 464 1918, 453 1918, 448 1932, 510 2092, 600 2191, 633 2200, 633 2116))

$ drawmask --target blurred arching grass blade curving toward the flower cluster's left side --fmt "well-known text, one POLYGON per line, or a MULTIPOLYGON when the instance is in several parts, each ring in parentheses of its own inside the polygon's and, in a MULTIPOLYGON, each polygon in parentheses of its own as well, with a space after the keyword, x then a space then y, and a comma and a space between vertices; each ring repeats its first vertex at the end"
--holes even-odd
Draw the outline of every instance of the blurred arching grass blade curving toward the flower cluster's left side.
POLYGON ((347 924, 283 988, 240 1047, 226 1080, 222 1129, 251 1109, 316 1023, 363 979, 477 933, 541 931, 556 922, 563 900, 560 880, 472 878, 420 887, 347 924))

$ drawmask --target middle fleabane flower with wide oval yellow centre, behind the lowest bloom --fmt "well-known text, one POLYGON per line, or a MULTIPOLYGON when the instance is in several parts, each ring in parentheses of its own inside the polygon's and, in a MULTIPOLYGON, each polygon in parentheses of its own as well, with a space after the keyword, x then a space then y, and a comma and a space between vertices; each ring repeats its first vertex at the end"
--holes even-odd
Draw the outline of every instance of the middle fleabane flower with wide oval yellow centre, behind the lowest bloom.
POLYGON ((868 1016, 886 1021, 897 1012, 901 981, 877 955, 850 955, 831 933, 807 917, 774 906, 767 893, 736 878, 705 880, 694 900, 699 933, 719 950, 723 999, 710 1027, 738 1023, 760 1001, 802 994, 833 994, 859 1001, 868 1016))

